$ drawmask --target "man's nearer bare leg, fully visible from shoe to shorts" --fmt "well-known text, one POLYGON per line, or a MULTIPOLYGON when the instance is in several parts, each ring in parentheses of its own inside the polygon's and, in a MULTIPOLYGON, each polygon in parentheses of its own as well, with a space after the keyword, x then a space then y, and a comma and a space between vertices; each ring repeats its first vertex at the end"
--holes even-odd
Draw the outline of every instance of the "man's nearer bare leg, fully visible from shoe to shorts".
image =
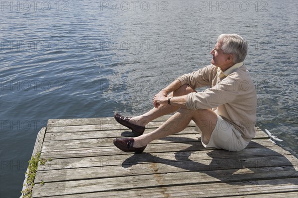
POLYGON ((181 108, 155 131, 134 137, 134 147, 143 147, 155 139, 181 132, 191 120, 198 125, 206 139, 209 140, 217 123, 217 114, 211 109, 188 110, 181 108))

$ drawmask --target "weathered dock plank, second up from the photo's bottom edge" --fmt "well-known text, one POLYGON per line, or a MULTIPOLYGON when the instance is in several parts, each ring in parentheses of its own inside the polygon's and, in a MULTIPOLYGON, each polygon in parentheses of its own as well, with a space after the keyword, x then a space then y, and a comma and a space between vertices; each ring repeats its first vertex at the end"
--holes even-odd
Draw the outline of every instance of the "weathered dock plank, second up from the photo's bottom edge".
MULTIPOLYGON (((133 175, 126 177, 88 179, 79 181, 35 184, 32 197, 70 195, 100 191, 124 191, 135 188, 167 187, 177 185, 204 184, 211 182, 241 182, 261 179, 297 177, 298 167, 265 167, 234 170, 212 170, 202 172, 178 172, 166 174, 133 175), (270 173, 271 174, 268 174, 270 173), (274 173, 274 174, 272 174, 274 173)), ((66 172, 67 174, 67 172, 66 172)), ((282 184, 282 180, 280 180, 282 184)))

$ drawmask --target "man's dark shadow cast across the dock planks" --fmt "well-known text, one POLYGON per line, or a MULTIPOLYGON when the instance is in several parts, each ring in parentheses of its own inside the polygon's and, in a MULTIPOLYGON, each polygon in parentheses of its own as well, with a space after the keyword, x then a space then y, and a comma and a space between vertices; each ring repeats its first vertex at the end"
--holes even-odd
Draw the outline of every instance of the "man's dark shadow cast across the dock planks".
MULTIPOLYGON (((282 179, 298 177, 298 172, 289 159, 254 141, 251 141, 246 149, 239 152, 215 149, 207 152, 207 155, 212 158, 211 160, 191 160, 189 157, 193 152, 204 149, 202 144, 185 137, 164 137, 162 139, 170 140, 171 142, 182 141, 190 146, 175 152, 176 160, 157 157, 146 153, 145 150, 143 154, 135 154, 127 158, 123 161, 122 167, 127 169, 145 162, 149 164, 159 163, 161 165, 155 164, 155 169, 152 169, 154 172, 164 169, 165 171, 162 172, 167 173, 166 170, 171 170, 169 167, 176 167, 179 170, 206 173, 221 182, 242 182, 237 183, 237 185, 252 183, 257 185, 288 184, 287 180, 282 179), (252 178, 253 181, 250 181, 252 178), (279 180, 266 180, 272 178, 279 180), (258 183, 257 180, 262 180, 262 182, 258 183)), ((201 142, 200 138, 199 142, 201 142)), ((170 151, 163 150, 163 152, 170 151)), ((197 178, 197 180, 198 183, 201 183, 200 178, 197 178)), ((297 184, 297 182, 293 182, 293 184, 297 184)), ((185 183, 185 185, 188 184, 185 183)))

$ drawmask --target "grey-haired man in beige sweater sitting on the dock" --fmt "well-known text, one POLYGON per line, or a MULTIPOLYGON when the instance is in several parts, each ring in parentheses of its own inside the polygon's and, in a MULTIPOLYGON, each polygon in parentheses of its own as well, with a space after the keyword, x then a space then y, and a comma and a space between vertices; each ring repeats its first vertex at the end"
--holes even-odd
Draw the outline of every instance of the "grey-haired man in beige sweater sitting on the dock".
POLYGON ((154 108, 132 118, 115 114, 137 137, 115 138, 122 151, 142 153, 147 144, 185 129, 193 120, 205 147, 228 151, 244 149, 255 136, 257 96, 243 61, 247 43, 237 34, 222 34, 211 51, 212 65, 184 74, 153 98, 154 108), (203 92, 199 87, 209 86, 203 92), (177 111, 177 112, 176 112, 177 111), (176 112, 153 132, 143 134, 152 120, 176 112))

